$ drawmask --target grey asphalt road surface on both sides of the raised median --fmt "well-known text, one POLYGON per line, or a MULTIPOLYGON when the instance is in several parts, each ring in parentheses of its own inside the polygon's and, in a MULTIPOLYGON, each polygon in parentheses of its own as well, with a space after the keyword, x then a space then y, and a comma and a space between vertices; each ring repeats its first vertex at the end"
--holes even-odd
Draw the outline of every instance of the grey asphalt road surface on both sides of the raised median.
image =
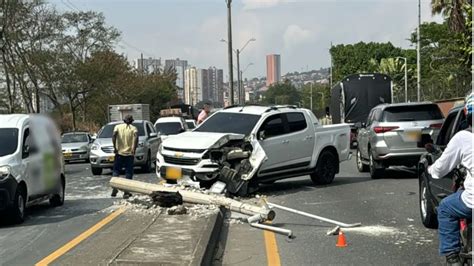
MULTIPOLYGON (((265 186, 268 201, 363 227, 344 230, 348 247, 336 248, 331 229, 310 218, 277 211, 273 224, 293 230, 296 239, 276 236, 275 249, 259 229, 231 223, 224 228, 220 261, 224 265, 265 265, 277 256, 282 265, 437 265, 435 230, 425 229, 418 213, 418 184, 409 170, 390 170, 386 178, 359 174, 354 161, 344 163, 328 186, 314 186, 300 177, 265 186)), ((63 207, 47 203, 28 210, 22 225, 0 225, 0 265, 32 265, 107 216, 114 208, 108 171, 92 176, 88 164, 66 166, 63 207)), ((155 175, 137 174, 156 181, 155 175)), ((121 196, 121 194, 119 194, 121 196)))

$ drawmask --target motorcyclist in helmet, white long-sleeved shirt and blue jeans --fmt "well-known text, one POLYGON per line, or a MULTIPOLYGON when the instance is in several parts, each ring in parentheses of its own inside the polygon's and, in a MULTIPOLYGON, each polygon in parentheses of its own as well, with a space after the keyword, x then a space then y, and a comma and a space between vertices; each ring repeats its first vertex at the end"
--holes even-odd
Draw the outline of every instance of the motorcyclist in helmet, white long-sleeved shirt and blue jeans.
POLYGON ((472 207, 474 206, 473 105, 474 93, 471 93, 466 98, 464 109, 469 129, 456 133, 441 157, 428 168, 428 173, 435 179, 444 177, 459 164, 467 169, 464 190, 459 190, 444 198, 438 207, 439 252, 441 256, 446 256, 447 265, 461 265, 459 220, 472 219, 472 207))

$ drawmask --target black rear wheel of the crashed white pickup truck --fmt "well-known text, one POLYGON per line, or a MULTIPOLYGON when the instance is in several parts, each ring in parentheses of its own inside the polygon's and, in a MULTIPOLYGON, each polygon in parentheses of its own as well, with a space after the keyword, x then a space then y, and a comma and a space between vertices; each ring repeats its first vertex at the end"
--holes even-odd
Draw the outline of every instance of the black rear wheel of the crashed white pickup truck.
POLYGON ((316 185, 331 184, 336 176, 337 164, 339 163, 334 153, 329 150, 319 155, 315 171, 311 174, 311 180, 316 185))

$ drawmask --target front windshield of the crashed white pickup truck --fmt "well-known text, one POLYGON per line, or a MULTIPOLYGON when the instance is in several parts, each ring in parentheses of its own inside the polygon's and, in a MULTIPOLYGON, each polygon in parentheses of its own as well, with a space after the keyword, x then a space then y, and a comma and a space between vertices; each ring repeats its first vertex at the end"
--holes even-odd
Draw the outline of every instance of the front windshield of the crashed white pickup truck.
POLYGON ((234 133, 248 136, 259 119, 259 115, 221 112, 209 117, 194 131, 234 133))

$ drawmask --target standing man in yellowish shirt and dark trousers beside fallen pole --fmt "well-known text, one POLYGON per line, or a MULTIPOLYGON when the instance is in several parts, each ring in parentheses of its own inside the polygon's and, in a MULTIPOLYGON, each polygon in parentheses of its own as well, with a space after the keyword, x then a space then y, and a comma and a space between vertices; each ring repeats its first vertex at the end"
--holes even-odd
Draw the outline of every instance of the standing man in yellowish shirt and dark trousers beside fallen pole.
MULTIPOLYGON (((138 146, 138 130, 133 123, 133 116, 127 115, 123 124, 116 125, 112 135, 114 145, 115 161, 112 176, 118 177, 120 171, 125 168, 125 178, 133 178, 133 159, 138 146)), ((118 190, 112 190, 112 197, 117 196, 118 190)), ((130 193, 125 192, 123 198, 130 197, 130 193)))

